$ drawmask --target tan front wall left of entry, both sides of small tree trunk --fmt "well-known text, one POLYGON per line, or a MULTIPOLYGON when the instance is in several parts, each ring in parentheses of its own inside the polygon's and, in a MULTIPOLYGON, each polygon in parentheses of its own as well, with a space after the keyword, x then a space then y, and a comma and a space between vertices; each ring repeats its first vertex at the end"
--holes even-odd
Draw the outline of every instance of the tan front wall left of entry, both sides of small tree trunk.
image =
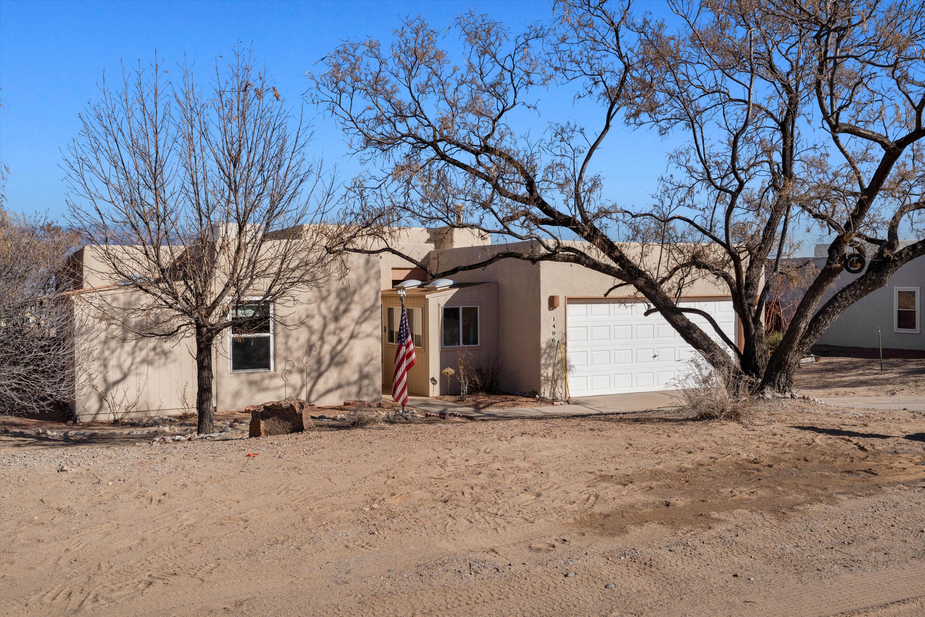
MULTIPOLYGON (((380 400, 379 260, 376 255, 352 255, 350 265, 345 278, 331 278, 304 293, 298 304, 274 307, 277 318, 292 326, 274 326, 274 370, 231 373, 228 335, 216 339, 213 394, 218 411, 243 410, 284 394, 318 404, 380 400), (309 355, 306 369, 302 358, 309 344, 316 350, 309 355), (288 385, 282 380, 286 367, 290 368, 288 385)), ((85 284, 92 282, 85 278, 85 284)), ((116 288, 75 296, 77 315, 89 329, 85 344, 90 362, 78 370, 90 372, 96 385, 75 396, 74 409, 81 420, 110 417, 107 396, 118 401, 137 399, 132 415, 181 413, 184 392, 187 405, 195 404, 193 341, 130 339, 98 318, 88 295, 105 294, 116 306, 131 306, 141 302, 139 293, 116 288)))

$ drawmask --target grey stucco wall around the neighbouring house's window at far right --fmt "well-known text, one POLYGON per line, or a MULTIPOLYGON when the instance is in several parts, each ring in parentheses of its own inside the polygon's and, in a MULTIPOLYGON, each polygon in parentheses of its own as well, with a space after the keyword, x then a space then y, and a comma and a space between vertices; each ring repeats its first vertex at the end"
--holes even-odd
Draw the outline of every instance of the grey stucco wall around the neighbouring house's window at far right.
MULTIPOLYGON (((817 267, 824 264, 824 259, 816 261, 817 267)), ((841 290, 859 276, 859 274, 843 272, 823 297, 822 302, 828 301, 836 291, 841 290)), ((845 309, 845 313, 839 315, 833 325, 821 336, 819 343, 843 347, 876 348, 880 344, 877 338, 879 327, 884 348, 925 350, 925 328, 921 326, 921 294, 923 291, 925 291, 925 257, 919 257, 896 270, 884 287, 872 291, 845 309), (919 334, 894 331, 894 289, 897 287, 919 288, 919 334)))

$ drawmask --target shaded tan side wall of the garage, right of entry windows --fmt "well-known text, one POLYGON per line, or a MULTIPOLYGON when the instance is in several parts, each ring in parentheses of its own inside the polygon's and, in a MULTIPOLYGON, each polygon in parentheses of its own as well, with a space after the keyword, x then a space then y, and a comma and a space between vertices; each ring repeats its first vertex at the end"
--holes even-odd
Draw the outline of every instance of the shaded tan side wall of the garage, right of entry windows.
MULTIPOLYGON (((492 244, 434 251, 430 255, 431 268, 439 271, 456 265, 474 264, 496 252, 526 244, 492 244)), ((500 388, 509 392, 539 392, 539 267, 516 259, 503 259, 477 270, 457 272, 450 278, 462 282, 498 283, 500 388)))

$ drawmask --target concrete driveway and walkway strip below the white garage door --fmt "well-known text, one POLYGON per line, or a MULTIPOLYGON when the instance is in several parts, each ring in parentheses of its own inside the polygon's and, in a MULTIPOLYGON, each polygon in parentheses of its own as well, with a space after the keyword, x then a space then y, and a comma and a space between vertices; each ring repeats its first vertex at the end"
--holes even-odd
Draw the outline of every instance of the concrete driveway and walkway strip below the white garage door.
POLYGON ((510 418, 554 418, 570 415, 597 415, 604 413, 640 412, 674 407, 679 404, 676 391, 609 394, 573 399, 568 405, 536 405, 513 409, 479 410, 449 401, 438 401, 421 396, 409 398, 408 406, 419 412, 459 413, 475 420, 502 420, 510 418))

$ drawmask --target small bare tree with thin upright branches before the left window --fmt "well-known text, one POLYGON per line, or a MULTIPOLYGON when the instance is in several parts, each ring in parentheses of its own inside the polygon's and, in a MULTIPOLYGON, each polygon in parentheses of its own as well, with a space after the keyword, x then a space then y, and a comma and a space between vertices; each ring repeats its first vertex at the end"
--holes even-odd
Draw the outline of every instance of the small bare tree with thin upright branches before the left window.
POLYGON ((216 336, 268 318, 294 326, 286 309, 330 275, 313 223, 331 183, 250 50, 204 88, 191 67, 177 72, 170 81, 155 61, 123 69, 117 89, 103 82, 66 154, 68 205, 99 275, 142 302, 84 298, 132 336, 194 339, 197 430, 210 433, 216 336))

